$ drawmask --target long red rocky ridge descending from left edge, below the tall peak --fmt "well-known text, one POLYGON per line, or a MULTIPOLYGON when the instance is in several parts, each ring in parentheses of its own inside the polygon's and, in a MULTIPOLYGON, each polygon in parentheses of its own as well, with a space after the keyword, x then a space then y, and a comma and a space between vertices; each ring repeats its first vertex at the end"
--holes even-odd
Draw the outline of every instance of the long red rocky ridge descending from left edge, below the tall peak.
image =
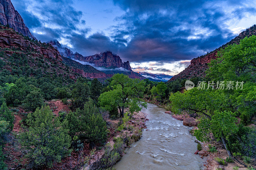
POLYGON ((86 78, 107 79, 109 76, 90 65, 83 65, 65 57, 62 58, 59 51, 50 44, 41 43, 18 34, 13 29, 0 25, 0 51, 4 53, 4 62, 8 63, 5 69, 12 72, 10 56, 18 53, 26 56, 29 66, 34 69, 43 69, 43 74, 56 74, 77 79, 79 76, 86 78), (6 56, 5 56, 6 55, 6 56))

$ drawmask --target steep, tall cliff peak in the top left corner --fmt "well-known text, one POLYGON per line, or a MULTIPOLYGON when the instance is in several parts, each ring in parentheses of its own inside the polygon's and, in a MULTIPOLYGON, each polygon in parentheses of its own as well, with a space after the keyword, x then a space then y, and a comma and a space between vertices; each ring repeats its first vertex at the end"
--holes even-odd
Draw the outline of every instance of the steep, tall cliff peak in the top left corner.
POLYGON ((14 9, 11 0, 0 0, 0 23, 2 25, 8 24, 16 32, 22 33, 32 39, 36 39, 24 24, 18 11, 14 9))

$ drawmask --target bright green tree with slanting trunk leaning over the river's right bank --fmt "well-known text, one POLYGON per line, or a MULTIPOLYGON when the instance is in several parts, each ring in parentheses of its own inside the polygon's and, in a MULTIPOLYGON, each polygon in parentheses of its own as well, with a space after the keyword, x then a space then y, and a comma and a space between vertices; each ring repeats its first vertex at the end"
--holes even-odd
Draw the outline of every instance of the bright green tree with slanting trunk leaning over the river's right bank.
MULTIPOLYGON (((227 111, 230 110, 228 98, 221 90, 191 89, 184 93, 177 92, 170 96, 170 101, 173 112, 186 112, 201 117, 199 129, 195 132, 198 140, 209 140, 212 132, 227 149, 226 138, 237 131, 236 118, 232 112, 227 111)), ((229 151, 228 154, 231 156, 229 151)))

